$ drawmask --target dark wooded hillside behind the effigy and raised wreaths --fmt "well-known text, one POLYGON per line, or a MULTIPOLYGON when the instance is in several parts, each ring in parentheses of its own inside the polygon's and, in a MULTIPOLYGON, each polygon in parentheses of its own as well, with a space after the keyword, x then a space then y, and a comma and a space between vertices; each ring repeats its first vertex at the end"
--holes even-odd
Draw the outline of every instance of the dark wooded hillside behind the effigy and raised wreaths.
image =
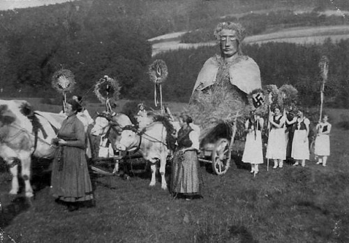
MULTIPOLYGON (((172 50, 151 56, 150 38, 177 31, 182 43, 212 40, 218 22, 241 22, 249 36, 295 27, 346 26, 349 2, 328 0, 99 0, 0 11, 1 96, 43 97, 59 102, 51 77, 59 68, 75 74, 75 94, 96 101, 94 83, 119 80, 121 98, 151 99, 147 66, 168 65, 165 101, 187 102, 202 64, 217 47, 172 50), (337 15, 326 15, 326 11, 337 15), (342 12, 341 12, 342 11, 342 12), (342 13, 342 14, 341 14, 342 13), (57 97, 57 101, 48 98, 57 97)), ((329 57, 326 105, 349 108, 349 40, 325 43, 248 44, 263 84, 292 84, 304 105, 318 105, 318 62, 329 57)))

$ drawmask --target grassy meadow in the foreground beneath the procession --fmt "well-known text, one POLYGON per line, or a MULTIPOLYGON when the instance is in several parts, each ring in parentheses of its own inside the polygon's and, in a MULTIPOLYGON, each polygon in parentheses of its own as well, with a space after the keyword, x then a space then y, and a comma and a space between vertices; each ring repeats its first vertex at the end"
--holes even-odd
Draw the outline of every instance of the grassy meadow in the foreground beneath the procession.
MULTIPOLYGON (((88 108, 92 113, 103 105, 88 108)), ((67 212, 50 196, 50 173, 33 175, 36 196, 26 200, 22 193, 8 195, 10 174, 0 166, 1 243, 349 242, 349 131, 336 126, 348 110, 327 113, 334 124, 327 167, 312 159, 305 168, 286 163, 273 170, 271 162, 268 170, 265 161, 253 177, 235 154, 223 176, 202 164, 205 195, 191 201, 173 199, 160 180, 150 188, 149 172, 128 180, 92 175, 96 207, 67 212)), ((170 167, 166 172, 169 182, 170 167)))

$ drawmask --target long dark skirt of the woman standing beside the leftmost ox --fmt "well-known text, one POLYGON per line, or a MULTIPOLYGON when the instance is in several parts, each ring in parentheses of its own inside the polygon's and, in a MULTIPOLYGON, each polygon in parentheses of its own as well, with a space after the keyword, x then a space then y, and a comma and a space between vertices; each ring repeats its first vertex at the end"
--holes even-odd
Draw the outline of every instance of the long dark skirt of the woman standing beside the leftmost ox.
POLYGON ((66 202, 94 198, 84 149, 59 147, 51 176, 52 196, 66 202))

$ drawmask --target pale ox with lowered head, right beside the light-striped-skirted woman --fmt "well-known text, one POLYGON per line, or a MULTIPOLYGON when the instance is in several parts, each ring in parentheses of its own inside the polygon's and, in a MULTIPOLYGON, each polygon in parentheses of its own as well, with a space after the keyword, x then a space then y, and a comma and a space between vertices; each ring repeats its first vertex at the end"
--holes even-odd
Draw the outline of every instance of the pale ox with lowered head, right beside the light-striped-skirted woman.
POLYGON ((151 182, 149 186, 156 184, 156 161, 160 161, 161 188, 167 189, 165 180, 165 166, 168 157, 168 147, 166 145, 167 131, 165 126, 156 121, 141 132, 131 126, 126 126, 121 133, 121 138, 117 149, 121 151, 131 151, 139 149, 145 160, 151 163, 151 182))

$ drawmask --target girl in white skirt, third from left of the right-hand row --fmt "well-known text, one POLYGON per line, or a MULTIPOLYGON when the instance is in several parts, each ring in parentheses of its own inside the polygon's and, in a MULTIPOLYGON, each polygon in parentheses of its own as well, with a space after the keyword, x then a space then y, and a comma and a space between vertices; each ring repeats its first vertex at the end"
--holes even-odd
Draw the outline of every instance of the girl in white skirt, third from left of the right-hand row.
POLYGON ((299 162, 302 162, 302 167, 305 166, 306 159, 309 159, 309 124, 310 121, 308 118, 304 117, 304 114, 301 110, 298 110, 297 117, 288 121, 288 124, 295 123, 295 135, 292 142, 292 152, 291 156, 296 162, 293 165, 299 165, 299 162))

